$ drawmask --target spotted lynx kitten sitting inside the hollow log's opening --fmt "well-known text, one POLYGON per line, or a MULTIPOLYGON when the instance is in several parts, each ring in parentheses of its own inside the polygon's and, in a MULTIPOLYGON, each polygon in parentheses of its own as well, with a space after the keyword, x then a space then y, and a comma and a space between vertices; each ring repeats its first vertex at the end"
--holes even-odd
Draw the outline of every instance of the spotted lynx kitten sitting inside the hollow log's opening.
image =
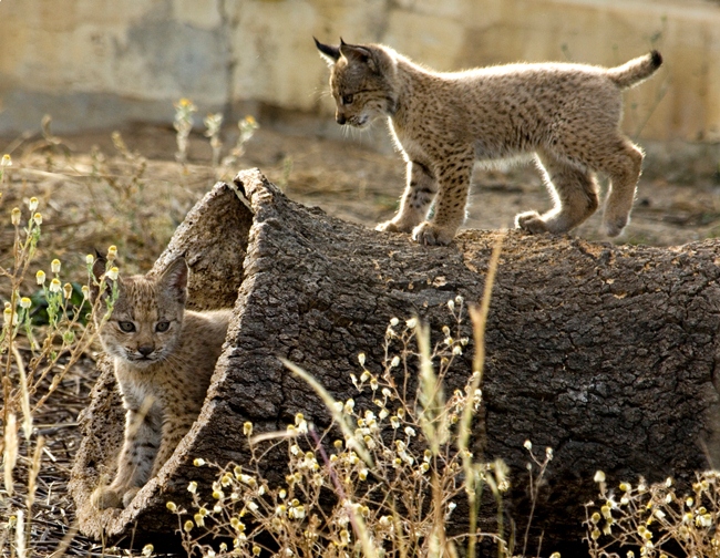
MULTIPOLYGON (((105 261, 93 273, 100 280, 105 261)), ((197 420, 215 369, 230 310, 185 310, 187 265, 172 261, 162 276, 119 278, 119 296, 100 339, 114 361, 125 407, 117 472, 92 503, 126 507, 197 420)), ((93 297, 100 296, 93 292, 93 297)), ((105 296, 104 293, 102 296, 105 296)))

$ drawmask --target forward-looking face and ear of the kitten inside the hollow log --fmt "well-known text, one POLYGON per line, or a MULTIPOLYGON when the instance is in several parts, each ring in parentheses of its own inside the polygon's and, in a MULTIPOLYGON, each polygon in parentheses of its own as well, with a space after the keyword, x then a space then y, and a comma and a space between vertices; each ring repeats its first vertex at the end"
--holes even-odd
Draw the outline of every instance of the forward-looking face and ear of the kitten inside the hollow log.
POLYGON ((179 342, 187 267, 173 264, 158 279, 119 279, 119 298, 100 339, 105 351, 134 366, 167 359, 179 342))

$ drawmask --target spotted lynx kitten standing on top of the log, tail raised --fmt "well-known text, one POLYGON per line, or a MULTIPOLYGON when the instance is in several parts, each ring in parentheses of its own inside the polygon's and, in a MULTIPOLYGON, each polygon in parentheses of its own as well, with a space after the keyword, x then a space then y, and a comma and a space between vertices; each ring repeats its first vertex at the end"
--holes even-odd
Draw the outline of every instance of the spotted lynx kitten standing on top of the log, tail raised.
POLYGON ((642 151, 619 131, 620 92, 662 63, 657 51, 617 68, 568 63, 510 64, 439 73, 380 44, 331 46, 315 40, 331 66, 336 121, 363 127, 387 116, 408 163, 400 210, 379 230, 446 245, 465 218, 475 159, 534 154, 555 207, 526 211, 515 225, 565 232, 598 207, 595 173, 611 183, 604 229, 627 225, 642 151), (435 199, 432 220, 424 220, 435 199))

